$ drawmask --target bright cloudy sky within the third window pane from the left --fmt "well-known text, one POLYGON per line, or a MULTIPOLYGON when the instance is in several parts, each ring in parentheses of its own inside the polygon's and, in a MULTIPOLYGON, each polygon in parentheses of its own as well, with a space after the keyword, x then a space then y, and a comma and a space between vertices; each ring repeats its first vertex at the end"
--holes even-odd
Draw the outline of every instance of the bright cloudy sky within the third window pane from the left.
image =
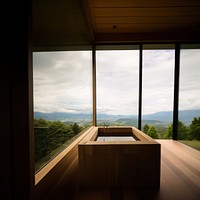
POLYGON ((144 51, 144 114, 173 109, 174 53, 174 50, 144 51))

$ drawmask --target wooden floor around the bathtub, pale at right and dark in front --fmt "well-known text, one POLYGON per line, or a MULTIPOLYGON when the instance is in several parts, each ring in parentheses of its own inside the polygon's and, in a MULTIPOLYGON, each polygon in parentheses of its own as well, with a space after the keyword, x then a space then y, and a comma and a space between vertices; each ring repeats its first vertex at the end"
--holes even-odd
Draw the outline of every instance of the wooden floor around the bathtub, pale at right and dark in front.
MULTIPOLYGON (((57 187, 49 200, 200 200, 200 152, 172 140, 161 144, 161 186, 153 190, 80 190, 66 185, 57 187)), ((78 159, 74 161, 78 166, 78 159)), ((147 163, 148 167, 148 163, 147 163)), ((74 180, 78 180, 78 167, 74 180)), ((72 181, 72 185, 73 185, 72 181)), ((62 184, 63 185, 63 184, 62 184)))

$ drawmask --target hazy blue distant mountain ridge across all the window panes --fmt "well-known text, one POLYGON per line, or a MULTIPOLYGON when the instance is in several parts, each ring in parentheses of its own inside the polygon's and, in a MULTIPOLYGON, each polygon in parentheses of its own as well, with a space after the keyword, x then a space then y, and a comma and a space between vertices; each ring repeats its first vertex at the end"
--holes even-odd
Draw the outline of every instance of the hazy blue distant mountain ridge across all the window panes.
MULTIPOLYGON (((200 117, 200 110, 181 110, 179 111, 179 120, 184 123, 190 123, 194 117, 200 117)), ((44 118, 46 120, 73 120, 73 119, 92 119, 92 114, 83 114, 83 113, 64 113, 64 112, 52 112, 52 113, 43 113, 43 112, 34 112, 34 118, 44 118)), ((109 114, 98 114, 97 118, 99 120, 128 120, 136 119, 137 115, 109 115, 109 114)), ((172 122, 173 112, 172 111, 163 111, 153 114, 143 115, 143 120, 154 120, 160 122, 172 122)))

